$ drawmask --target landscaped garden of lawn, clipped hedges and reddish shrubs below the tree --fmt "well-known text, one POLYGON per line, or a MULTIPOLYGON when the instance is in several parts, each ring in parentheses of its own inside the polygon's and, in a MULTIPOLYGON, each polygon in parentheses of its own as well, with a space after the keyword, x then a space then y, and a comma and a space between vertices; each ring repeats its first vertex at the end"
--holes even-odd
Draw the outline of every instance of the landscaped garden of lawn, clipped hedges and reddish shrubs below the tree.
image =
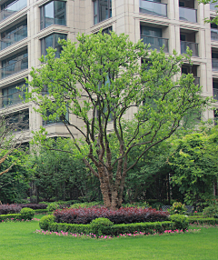
MULTIPOLYGON (((36 205, 29 206, 37 207, 36 205)), ((7 208, 8 212, 11 212, 19 207, 22 208, 20 205, 0 205, 0 211, 1 208, 6 211, 7 208)), ((54 208, 54 204, 48 205, 47 208, 54 208)), ((212 209, 204 210, 206 213, 204 215, 178 214, 172 215, 170 219, 167 212, 138 207, 124 207, 113 212, 100 205, 86 208, 82 204, 72 205, 71 209, 56 209, 46 215, 37 214, 40 211, 46 211, 46 209, 23 208, 21 213, 14 214, 16 217, 12 217, 12 214, 6 214, 10 216, 8 218, 5 218, 6 215, 0 215, 2 217, 0 223, 1 259, 217 259, 218 218, 207 217, 213 212, 212 209), (51 218, 51 215, 54 217, 51 218), (130 220, 133 223, 108 225, 110 222, 108 218, 95 218, 101 215, 117 223, 120 219, 124 220, 123 223, 128 223, 130 220), (134 221, 139 220, 140 217, 143 221, 145 215, 149 216, 147 222, 134 224, 134 221), (22 219, 16 220, 19 217, 22 219), (66 219, 68 224, 63 223, 66 219), (66 230, 66 226, 68 229, 73 228, 74 231, 77 226, 79 230, 85 225, 75 223, 84 222, 87 228, 94 223, 94 219, 100 220, 96 222, 97 225, 93 225, 93 228, 97 227, 95 231, 98 235, 93 233, 84 235, 82 232, 66 230), (160 222, 155 222, 158 219, 160 222), (107 222, 101 220, 107 220, 107 222), (74 224, 70 224, 72 222, 74 224), (197 225, 197 222, 201 225, 197 225), (187 223, 193 223, 193 225, 187 225, 187 223), (40 228, 45 225, 49 230, 40 228), (112 230, 114 226, 116 230, 119 225, 123 229, 119 228, 118 231, 129 232, 122 234, 114 232, 114 235, 105 235, 110 228, 112 230), (134 227, 136 225, 139 229, 134 230, 130 228, 131 225, 134 227), (186 225, 186 228, 183 230, 175 228, 178 225, 186 225), (54 227, 56 229, 52 231, 54 227), (140 228, 143 231, 140 231, 140 228), (102 235, 99 234, 99 230, 102 235)), ((146 217, 144 219, 146 221, 146 217)))

